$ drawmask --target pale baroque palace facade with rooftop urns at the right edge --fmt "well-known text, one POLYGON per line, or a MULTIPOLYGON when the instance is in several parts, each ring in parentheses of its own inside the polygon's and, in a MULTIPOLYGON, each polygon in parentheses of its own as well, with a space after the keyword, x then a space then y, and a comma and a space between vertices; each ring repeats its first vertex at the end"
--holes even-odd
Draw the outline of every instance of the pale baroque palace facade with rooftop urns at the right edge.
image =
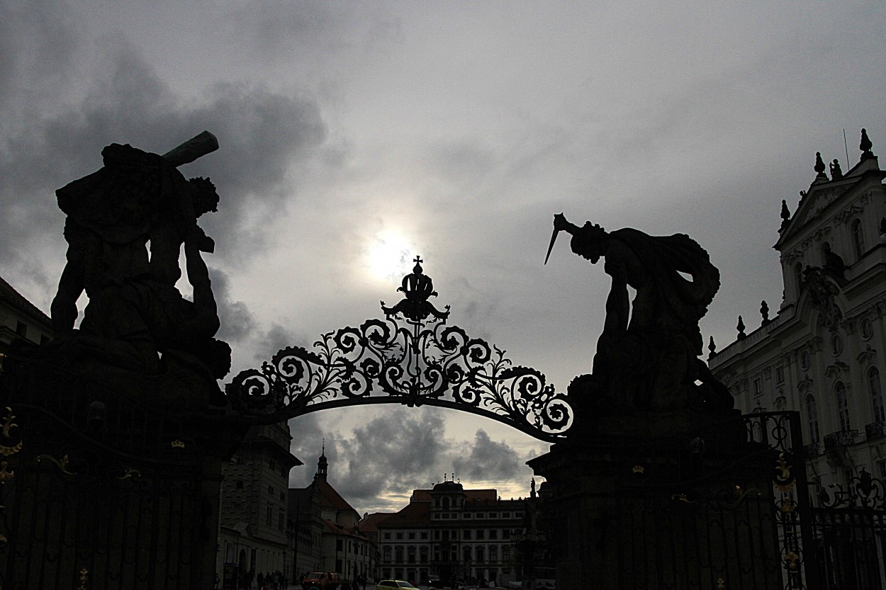
POLYGON ((886 477, 886 172, 871 147, 862 129, 859 162, 843 174, 833 160, 829 177, 816 155, 797 210, 781 205, 778 313, 764 302, 749 334, 739 318, 709 358, 742 413, 799 412, 813 498, 861 470, 886 477))

